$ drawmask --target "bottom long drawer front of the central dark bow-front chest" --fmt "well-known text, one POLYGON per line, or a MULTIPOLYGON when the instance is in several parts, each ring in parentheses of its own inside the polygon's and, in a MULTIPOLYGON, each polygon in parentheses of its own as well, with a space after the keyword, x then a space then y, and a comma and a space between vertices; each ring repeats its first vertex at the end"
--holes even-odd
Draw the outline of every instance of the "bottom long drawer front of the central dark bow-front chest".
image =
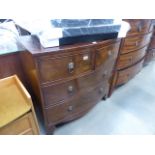
POLYGON ((108 87, 101 85, 87 94, 82 94, 69 102, 64 102, 59 105, 55 105, 46 110, 48 124, 62 123, 68 118, 77 115, 95 105, 101 98, 108 93, 108 87))

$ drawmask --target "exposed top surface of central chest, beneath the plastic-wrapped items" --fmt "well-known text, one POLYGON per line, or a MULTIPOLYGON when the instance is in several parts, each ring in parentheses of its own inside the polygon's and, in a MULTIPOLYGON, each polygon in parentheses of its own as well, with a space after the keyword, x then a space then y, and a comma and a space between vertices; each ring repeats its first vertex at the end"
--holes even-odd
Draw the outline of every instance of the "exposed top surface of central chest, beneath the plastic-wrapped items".
POLYGON ((20 38, 21 45, 28 50, 33 56, 41 56, 52 53, 65 53, 68 51, 76 52, 77 50, 83 48, 97 48, 101 46, 106 46, 120 41, 120 39, 110 39, 99 42, 89 42, 89 43, 78 43, 74 45, 57 46, 51 48, 43 48, 39 43, 39 40, 32 38, 31 36, 24 36, 20 38))

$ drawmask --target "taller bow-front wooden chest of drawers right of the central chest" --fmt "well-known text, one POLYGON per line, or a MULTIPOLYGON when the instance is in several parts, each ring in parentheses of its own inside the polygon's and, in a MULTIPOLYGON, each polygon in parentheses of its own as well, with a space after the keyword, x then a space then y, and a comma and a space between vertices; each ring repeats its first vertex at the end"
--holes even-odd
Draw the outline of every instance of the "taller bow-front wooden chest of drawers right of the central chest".
POLYGON ((125 21, 130 23, 131 29, 121 41, 109 95, 114 88, 128 82, 142 69, 152 36, 151 20, 127 19, 125 21))

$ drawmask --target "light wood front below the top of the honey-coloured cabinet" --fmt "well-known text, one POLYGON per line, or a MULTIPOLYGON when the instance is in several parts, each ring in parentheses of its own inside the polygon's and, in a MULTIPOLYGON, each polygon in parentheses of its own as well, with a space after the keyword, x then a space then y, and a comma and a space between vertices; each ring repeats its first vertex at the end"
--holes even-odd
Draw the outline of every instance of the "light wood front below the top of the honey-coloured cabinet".
POLYGON ((19 119, 0 129, 0 135, 38 134, 32 113, 25 114, 19 119))

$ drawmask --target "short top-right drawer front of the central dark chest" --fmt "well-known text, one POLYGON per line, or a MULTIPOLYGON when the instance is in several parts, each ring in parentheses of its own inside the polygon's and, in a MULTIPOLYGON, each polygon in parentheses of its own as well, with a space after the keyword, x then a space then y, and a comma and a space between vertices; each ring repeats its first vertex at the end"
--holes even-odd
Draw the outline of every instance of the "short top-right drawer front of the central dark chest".
POLYGON ((117 58, 120 42, 105 46, 103 48, 98 48, 96 51, 96 67, 103 67, 110 61, 113 66, 114 60, 117 58))

